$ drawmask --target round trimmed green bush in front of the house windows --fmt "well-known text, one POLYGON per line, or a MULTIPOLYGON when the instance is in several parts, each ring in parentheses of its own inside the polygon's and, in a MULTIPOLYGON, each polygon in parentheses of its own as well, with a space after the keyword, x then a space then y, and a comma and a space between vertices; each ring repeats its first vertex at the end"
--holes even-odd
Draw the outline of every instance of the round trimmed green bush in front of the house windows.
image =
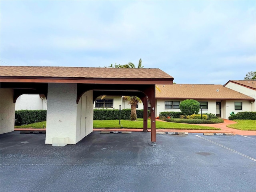
POLYGON ((180 110, 184 115, 198 114, 200 110, 200 102, 194 99, 186 99, 180 102, 180 110))

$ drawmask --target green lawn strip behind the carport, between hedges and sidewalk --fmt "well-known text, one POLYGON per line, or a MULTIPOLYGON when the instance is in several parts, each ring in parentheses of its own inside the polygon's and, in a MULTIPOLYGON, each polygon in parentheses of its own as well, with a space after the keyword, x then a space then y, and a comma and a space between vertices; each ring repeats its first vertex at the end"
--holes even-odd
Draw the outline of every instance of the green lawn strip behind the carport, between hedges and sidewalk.
MULTIPOLYGON (((23 126, 15 126, 15 128, 46 128, 46 121, 32 123, 23 126)), ((94 120, 93 128, 143 128, 143 119, 137 119, 136 121, 121 120, 119 125, 119 120, 94 120)), ((148 119, 148 128, 150 128, 150 119, 148 119)), ((162 122, 156 121, 156 129, 186 129, 186 130, 220 130, 219 128, 206 127, 199 125, 190 125, 182 123, 172 123, 172 122, 162 122)))

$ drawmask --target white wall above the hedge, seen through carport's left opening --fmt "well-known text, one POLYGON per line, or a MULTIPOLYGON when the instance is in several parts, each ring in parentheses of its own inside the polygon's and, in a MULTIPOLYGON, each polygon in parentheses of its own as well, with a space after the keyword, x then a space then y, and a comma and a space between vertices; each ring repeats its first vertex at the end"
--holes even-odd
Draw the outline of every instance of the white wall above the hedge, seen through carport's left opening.
POLYGON ((15 110, 47 110, 47 100, 45 96, 23 94, 16 100, 15 110))

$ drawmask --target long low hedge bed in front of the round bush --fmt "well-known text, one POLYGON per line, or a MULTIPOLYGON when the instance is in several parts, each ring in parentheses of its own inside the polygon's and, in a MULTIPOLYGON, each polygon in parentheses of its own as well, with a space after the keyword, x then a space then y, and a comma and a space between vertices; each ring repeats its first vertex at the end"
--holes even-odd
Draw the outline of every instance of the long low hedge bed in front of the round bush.
POLYGON ((223 123, 224 120, 222 119, 178 119, 178 118, 171 118, 165 119, 167 122, 174 122, 174 123, 191 123, 191 124, 212 124, 212 123, 223 123))

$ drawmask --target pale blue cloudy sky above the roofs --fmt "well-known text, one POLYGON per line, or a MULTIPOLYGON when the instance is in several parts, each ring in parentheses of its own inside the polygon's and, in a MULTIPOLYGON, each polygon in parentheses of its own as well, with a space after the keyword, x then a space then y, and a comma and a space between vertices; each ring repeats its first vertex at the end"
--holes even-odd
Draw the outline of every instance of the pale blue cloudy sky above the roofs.
MULTIPOLYGON (((0 1, 2 66, 160 68, 178 84, 256 71, 256 1, 0 1)), ((150 75, 150 74, 149 74, 150 75)))

